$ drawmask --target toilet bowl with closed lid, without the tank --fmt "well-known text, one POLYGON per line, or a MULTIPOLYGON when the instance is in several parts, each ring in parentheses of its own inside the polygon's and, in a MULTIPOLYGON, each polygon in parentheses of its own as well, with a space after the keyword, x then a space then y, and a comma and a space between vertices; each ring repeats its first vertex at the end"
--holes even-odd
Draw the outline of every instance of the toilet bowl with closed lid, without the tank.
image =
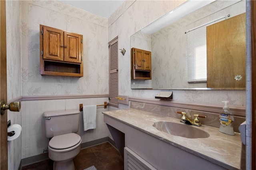
POLYGON ((48 146, 49 158, 54 160, 54 170, 75 170, 73 158, 81 150, 81 137, 75 133, 54 136, 48 146))

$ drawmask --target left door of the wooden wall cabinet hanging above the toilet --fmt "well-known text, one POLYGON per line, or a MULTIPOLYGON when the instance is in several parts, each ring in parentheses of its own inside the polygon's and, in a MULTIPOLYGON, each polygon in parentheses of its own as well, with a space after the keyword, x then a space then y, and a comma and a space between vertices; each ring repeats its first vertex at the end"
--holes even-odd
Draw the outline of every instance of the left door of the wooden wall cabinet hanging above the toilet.
POLYGON ((63 61, 63 31, 43 27, 43 59, 63 61))

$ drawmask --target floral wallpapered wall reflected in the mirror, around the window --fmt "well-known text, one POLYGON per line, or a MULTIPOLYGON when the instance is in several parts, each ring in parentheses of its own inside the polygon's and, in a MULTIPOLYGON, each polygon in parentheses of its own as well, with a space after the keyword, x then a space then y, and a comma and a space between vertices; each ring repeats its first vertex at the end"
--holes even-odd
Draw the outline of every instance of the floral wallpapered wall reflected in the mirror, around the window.
POLYGON ((187 34, 185 32, 227 14, 230 14, 231 18, 246 12, 245 1, 236 4, 232 1, 224 2, 216 1, 151 35, 152 88, 206 88, 206 83, 189 84, 187 82, 187 34))

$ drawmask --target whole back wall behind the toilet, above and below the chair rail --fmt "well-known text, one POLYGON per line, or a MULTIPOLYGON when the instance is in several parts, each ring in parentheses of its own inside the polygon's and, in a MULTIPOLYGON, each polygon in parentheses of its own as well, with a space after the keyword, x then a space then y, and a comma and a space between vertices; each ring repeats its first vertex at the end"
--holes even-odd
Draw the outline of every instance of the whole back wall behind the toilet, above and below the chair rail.
MULTIPOLYGON (((95 105, 108 98, 33 100, 33 96, 76 94, 108 94, 107 19, 78 10, 58 1, 22 1, 22 158, 42 154, 48 148, 44 133, 44 111, 79 109, 79 104, 95 105), (39 53, 39 25, 79 33, 84 37, 84 76, 41 76, 39 53)), ((82 129, 82 113, 78 134, 82 143, 108 137, 102 109, 97 108, 97 127, 82 129)))

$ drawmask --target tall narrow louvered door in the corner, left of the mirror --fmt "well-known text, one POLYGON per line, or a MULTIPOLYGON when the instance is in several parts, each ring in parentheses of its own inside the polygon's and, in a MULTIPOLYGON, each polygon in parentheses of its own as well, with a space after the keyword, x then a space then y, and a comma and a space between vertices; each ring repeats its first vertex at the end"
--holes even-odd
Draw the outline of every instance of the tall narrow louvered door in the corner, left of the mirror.
POLYGON ((118 104, 118 37, 109 43, 109 98, 110 103, 118 104))

